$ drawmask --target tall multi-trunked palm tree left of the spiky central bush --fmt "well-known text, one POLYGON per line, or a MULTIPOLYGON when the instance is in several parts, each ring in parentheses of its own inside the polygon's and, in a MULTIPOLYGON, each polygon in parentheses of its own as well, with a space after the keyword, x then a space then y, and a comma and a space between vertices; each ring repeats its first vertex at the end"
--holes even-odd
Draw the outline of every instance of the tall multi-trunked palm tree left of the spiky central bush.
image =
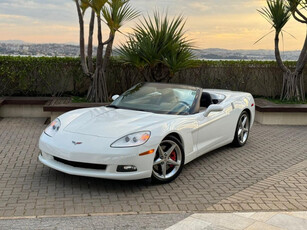
POLYGON ((80 57, 83 72, 90 77, 91 85, 88 90, 87 99, 95 102, 108 101, 108 89, 106 83, 106 68, 109 62, 115 33, 123 24, 136 18, 139 13, 129 4, 130 0, 74 0, 77 6, 80 25, 80 57), (85 11, 91 8, 92 15, 89 26, 88 57, 84 52, 84 21, 85 11), (97 17, 98 48, 96 57, 96 68, 92 61, 92 35, 94 30, 94 17, 97 17), (108 39, 102 40, 102 21, 105 20, 110 34, 108 39), (104 47, 107 46, 103 56, 104 47), (86 59, 88 61, 86 61, 86 59))

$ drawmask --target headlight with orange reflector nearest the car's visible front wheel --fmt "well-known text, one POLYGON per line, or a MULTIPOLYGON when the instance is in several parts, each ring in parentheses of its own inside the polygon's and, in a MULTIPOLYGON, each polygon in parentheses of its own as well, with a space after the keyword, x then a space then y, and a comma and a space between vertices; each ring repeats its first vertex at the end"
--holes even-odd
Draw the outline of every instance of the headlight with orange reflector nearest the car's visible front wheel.
POLYGON ((126 135, 111 144, 113 148, 135 147, 145 144, 150 138, 149 131, 131 133, 126 135))

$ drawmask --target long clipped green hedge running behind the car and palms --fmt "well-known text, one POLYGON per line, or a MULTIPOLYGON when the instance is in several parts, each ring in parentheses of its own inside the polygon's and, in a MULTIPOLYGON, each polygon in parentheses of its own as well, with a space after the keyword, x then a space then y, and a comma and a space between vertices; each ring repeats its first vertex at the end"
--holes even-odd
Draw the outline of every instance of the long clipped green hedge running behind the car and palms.
MULTIPOLYGON (((295 62, 287 62, 290 67, 295 62)), ((112 59, 108 68, 110 95, 120 94, 143 78, 132 66, 112 59)), ((171 82, 247 91, 258 96, 279 95, 282 73, 274 61, 199 61, 171 82)), ((305 79, 307 90, 307 79, 305 79)), ((89 80, 79 58, 0 56, 0 96, 85 95, 89 80)))

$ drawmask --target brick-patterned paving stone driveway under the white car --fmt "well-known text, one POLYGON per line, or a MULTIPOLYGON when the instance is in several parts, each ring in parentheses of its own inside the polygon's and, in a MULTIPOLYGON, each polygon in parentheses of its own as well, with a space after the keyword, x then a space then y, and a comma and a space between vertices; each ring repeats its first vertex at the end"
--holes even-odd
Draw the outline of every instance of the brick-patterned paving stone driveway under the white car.
POLYGON ((147 185, 70 176, 37 160, 43 119, 0 120, 0 218, 91 213, 307 210, 307 127, 255 124, 243 148, 147 185))

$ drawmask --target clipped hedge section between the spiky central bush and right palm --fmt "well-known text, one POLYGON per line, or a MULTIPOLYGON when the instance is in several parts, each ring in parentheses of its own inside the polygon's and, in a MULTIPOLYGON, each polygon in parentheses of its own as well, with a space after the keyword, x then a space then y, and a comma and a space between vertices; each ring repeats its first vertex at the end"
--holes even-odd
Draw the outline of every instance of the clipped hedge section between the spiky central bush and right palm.
MULTIPOLYGON (((295 62, 286 62, 290 68, 295 62)), ((280 95, 282 72, 274 61, 200 61, 196 68, 179 73, 174 82, 203 88, 246 91, 257 96, 280 95)), ((307 84, 307 82, 306 82, 307 84)))

